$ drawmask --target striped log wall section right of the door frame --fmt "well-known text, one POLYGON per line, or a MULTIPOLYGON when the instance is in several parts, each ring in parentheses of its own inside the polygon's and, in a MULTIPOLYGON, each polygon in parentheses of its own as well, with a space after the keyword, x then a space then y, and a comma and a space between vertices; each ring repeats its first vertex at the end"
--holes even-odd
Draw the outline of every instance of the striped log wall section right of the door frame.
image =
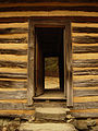
POLYGON ((73 23, 75 117, 98 117, 98 23, 73 23))

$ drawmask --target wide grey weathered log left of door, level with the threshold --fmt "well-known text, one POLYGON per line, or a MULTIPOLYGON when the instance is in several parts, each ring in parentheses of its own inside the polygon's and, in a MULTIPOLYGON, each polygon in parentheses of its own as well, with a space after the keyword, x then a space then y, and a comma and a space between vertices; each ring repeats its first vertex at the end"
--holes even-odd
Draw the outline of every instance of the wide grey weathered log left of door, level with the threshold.
POLYGON ((0 91, 0 99, 25 99, 26 97, 26 91, 0 91))

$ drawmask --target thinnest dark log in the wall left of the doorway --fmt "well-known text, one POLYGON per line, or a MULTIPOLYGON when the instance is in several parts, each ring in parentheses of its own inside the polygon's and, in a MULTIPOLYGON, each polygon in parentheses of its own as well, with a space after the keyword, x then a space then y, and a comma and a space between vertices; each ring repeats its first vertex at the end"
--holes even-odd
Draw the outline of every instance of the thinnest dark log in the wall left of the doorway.
POLYGON ((27 73, 0 72, 0 79, 27 79, 27 73))

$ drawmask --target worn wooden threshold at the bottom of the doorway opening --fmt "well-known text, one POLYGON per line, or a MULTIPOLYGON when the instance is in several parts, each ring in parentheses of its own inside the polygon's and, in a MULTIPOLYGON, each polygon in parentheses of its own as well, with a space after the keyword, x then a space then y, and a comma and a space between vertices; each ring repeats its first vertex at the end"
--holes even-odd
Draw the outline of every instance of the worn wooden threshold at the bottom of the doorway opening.
POLYGON ((46 90, 44 94, 41 94, 40 96, 36 96, 34 97, 35 100, 39 99, 39 100, 65 100, 66 97, 64 96, 64 93, 61 91, 57 91, 57 90, 46 90))

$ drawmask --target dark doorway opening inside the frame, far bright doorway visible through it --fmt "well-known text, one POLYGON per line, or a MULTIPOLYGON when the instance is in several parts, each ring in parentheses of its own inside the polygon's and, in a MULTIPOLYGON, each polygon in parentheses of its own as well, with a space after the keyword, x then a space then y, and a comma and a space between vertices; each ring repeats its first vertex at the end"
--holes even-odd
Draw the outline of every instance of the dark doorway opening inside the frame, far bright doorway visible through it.
POLYGON ((60 92, 64 96, 63 27, 36 27, 35 31, 36 96, 53 97, 61 95, 60 92))

